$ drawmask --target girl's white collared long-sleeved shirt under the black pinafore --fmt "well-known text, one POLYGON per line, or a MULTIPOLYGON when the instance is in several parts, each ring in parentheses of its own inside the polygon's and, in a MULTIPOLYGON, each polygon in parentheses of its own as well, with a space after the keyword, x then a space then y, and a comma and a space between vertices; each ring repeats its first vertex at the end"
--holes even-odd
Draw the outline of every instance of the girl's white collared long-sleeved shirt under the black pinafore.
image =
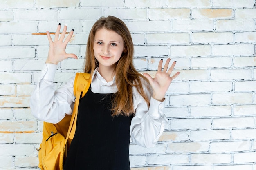
MULTIPOLYGON (((65 114, 72 114, 75 101, 74 77, 55 90, 53 80, 56 68, 56 64, 44 64, 30 99, 32 115, 41 121, 51 123, 61 121, 65 114)), ((92 76, 91 90, 94 93, 117 92, 115 77, 112 81, 106 82, 96 68, 92 76)), ((153 99, 147 88, 144 88, 144 91, 150 99, 149 108, 137 89, 132 88, 135 117, 132 118, 130 136, 133 143, 149 148, 155 146, 164 128, 168 126, 168 120, 164 115, 164 102, 153 99)))

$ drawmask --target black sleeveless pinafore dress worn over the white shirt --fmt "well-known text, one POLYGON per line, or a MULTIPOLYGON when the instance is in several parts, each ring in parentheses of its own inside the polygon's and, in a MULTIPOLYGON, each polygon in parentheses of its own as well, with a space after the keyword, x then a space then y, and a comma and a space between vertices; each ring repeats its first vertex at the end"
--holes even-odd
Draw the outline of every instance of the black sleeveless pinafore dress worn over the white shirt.
POLYGON ((112 95, 89 88, 80 99, 76 133, 63 170, 130 170, 132 116, 111 116, 112 95))

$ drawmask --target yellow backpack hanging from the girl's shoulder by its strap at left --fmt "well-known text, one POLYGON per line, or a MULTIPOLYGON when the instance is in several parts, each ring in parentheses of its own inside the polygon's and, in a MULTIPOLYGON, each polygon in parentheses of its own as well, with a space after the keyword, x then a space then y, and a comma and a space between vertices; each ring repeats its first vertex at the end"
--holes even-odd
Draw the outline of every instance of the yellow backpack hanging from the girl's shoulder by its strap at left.
POLYGON ((38 150, 39 168, 41 170, 62 170, 67 156, 67 150, 76 130, 76 118, 80 97, 83 97, 90 87, 91 79, 88 73, 76 73, 74 94, 76 101, 72 115, 67 115, 57 124, 44 122, 43 140, 38 150), (81 94, 82 93, 82 94, 81 94))

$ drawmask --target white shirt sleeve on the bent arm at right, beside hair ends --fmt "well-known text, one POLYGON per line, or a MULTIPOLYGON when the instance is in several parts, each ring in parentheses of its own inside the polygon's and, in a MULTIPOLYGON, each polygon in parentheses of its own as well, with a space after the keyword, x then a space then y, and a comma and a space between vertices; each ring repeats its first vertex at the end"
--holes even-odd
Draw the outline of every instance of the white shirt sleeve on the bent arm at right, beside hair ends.
POLYGON ((168 127, 168 120, 164 115, 164 102, 155 100, 150 91, 144 90, 150 99, 149 107, 137 89, 133 87, 132 90, 135 117, 132 118, 130 136, 133 143, 150 148, 155 146, 165 127, 168 127))

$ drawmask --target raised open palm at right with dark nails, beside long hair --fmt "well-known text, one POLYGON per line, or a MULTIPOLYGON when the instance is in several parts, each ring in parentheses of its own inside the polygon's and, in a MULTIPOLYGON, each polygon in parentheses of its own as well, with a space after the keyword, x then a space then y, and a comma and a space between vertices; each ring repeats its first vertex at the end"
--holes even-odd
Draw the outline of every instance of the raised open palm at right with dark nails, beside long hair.
POLYGON ((151 87, 153 88, 153 98, 158 101, 164 101, 165 93, 168 90, 171 82, 180 74, 180 72, 177 72, 175 73, 175 75, 170 77, 173 71, 173 68, 176 64, 176 61, 174 61, 171 67, 168 69, 170 60, 171 60, 170 58, 166 60, 163 71, 162 71, 163 60, 161 59, 159 61, 155 78, 152 78, 148 73, 143 74, 145 77, 148 78, 148 81, 151 87))

